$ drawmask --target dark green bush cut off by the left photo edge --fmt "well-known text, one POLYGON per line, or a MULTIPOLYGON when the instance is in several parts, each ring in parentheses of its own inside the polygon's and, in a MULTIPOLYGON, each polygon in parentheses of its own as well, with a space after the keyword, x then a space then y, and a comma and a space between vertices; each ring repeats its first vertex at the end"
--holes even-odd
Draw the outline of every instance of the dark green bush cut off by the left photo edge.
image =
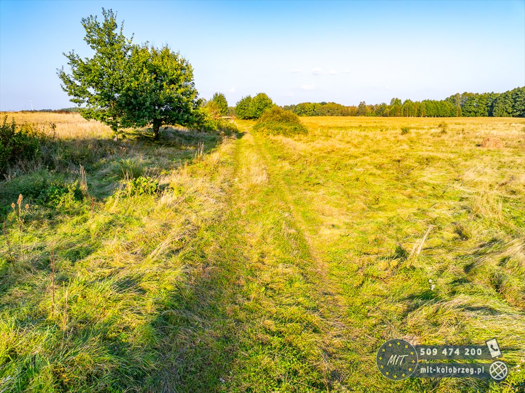
POLYGON ((33 160, 40 153, 44 135, 29 124, 17 129, 15 119, 7 122, 7 115, 0 125, 0 177, 5 177, 10 165, 21 160, 33 160))

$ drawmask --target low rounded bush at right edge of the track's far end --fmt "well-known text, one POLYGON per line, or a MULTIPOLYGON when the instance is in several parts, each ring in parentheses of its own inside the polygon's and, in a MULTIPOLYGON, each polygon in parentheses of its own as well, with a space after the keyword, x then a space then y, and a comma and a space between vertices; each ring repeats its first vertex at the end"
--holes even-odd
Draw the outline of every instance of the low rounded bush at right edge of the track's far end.
POLYGON ((301 124, 295 113, 280 107, 267 109, 254 125, 254 130, 285 136, 308 133, 308 129, 301 124))

